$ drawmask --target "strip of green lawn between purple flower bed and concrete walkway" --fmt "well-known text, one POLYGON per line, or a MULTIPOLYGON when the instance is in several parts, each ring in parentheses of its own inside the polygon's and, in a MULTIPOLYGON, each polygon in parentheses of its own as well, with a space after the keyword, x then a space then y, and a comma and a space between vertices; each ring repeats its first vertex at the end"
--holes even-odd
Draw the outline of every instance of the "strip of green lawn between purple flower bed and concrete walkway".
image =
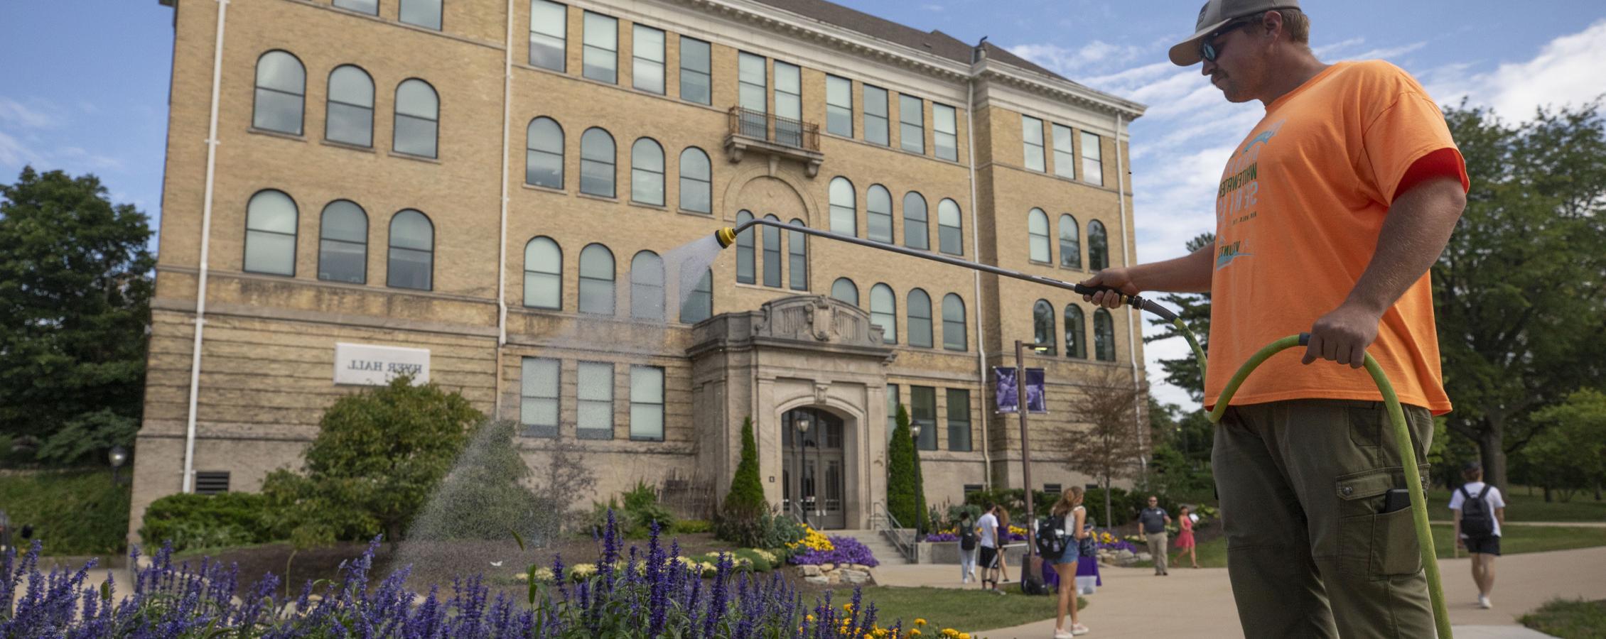
MULTIPOLYGON (((989 628, 1009 628, 1021 623, 1054 618, 1058 612, 1058 596, 1031 597, 1020 594, 1020 589, 1005 589, 1004 596, 983 589, 957 588, 898 588, 870 586, 864 591, 861 605, 875 604, 875 623, 891 628, 903 620, 903 628, 915 628, 914 620, 923 618, 920 633, 936 636, 943 628, 954 628, 962 633, 989 628)), ((853 600, 853 589, 842 588, 830 594, 830 602, 840 610, 842 604, 853 600)), ((1079 607, 1087 607, 1087 599, 1078 597, 1079 607)))

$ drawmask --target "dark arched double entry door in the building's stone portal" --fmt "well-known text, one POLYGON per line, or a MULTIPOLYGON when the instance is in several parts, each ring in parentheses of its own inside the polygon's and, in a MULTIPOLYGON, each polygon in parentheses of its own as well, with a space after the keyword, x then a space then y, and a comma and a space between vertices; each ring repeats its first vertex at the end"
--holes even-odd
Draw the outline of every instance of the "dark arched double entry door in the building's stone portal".
POLYGON ((781 506, 801 514, 814 528, 846 527, 842 419, 798 408, 781 416, 781 506))

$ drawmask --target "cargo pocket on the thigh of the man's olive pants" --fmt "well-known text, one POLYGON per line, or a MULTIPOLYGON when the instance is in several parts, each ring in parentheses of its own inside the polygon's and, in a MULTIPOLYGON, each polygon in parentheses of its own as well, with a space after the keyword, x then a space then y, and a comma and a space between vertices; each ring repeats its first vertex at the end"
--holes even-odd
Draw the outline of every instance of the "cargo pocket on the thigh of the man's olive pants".
MULTIPOLYGON (((1428 474, 1426 466, 1420 470, 1428 474)), ((1335 482, 1339 499, 1341 570, 1372 578, 1413 575, 1421 570, 1421 551, 1416 546, 1410 507, 1383 512, 1391 488, 1405 488, 1404 469, 1363 470, 1335 482)))

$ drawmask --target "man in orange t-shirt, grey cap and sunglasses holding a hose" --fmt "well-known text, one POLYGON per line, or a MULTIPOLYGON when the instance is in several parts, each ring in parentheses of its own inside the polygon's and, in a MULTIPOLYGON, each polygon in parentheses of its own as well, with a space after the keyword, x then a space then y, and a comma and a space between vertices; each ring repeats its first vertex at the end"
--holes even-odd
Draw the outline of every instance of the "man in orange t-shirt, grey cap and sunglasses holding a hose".
POLYGON ((1465 162, 1408 74, 1319 61, 1294 0, 1211 0, 1195 29, 1171 61, 1203 61, 1229 101, 1266 104, 1222 170, 1216 242, 1084 284, 1209 292, 1209 408, 1256 350, 1310 332, 1302 360, 1261 364, 1216 429, 1245 634, 1431 637, 1415 530, 1397 499, 1402 461, 1381 395, 1357 368, 1367 352, 1383 366, 1426 472, 1433 414, 1450 411, 1428 268, 1466 204, 1465 162))

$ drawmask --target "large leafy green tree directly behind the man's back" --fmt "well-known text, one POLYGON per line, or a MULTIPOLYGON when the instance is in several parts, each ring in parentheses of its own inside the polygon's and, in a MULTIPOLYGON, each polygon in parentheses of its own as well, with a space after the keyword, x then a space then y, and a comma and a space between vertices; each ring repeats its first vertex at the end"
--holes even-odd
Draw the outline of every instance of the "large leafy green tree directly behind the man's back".
POLYGON ((1521 125, 1445 109, 1471 191, 1433 267, 1445 425, 1474 442, 1484 477, 1545 424, 1532 413, 1600 379, 1606 337, 1606 125, 1600 101, 1521 125))

